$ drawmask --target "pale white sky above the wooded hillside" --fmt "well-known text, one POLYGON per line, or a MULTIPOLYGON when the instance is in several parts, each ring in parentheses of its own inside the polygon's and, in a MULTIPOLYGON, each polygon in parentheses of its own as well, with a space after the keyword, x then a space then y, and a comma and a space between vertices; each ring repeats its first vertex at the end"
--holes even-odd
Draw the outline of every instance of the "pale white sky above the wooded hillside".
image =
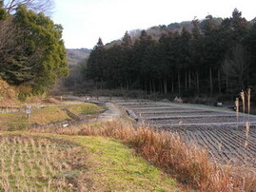
POLYGON ((255 0, 55 0, 52 18, 64 27, 67 48, 93 48, 101 37, 106 44, 126 30, 230 17, 237 8, 247 20, 256 17, 255 0))

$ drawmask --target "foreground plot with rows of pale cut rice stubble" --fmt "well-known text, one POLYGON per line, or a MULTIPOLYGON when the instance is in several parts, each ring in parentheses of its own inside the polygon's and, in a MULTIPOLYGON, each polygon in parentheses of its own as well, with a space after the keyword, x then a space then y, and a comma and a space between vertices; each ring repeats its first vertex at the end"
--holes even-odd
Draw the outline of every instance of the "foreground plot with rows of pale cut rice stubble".
POLYGON ((27 136, 0 137, 0 191, 81 191, 85 151, 62 141, 27 136))

